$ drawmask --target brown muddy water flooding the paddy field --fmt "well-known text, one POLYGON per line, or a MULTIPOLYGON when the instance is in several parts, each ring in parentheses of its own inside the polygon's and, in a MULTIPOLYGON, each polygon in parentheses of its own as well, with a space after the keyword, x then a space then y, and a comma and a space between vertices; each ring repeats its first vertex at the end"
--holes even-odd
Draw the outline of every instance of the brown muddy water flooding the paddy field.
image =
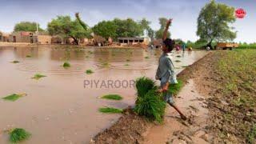
MULTIPOLYGON (((161 50, 142 49, 1 47, 0 98, 14 93, 27 96, 16 102, 0 100, 0 143, 8 142, 3 130, 14 127, 32 134, 24 143, 90 142, 94 134, 120 117, 101 114, 98 108, 133 105, 135 90, 126 83, 143 75, 154 78, 160 54, 161 50), (19 63, 11 63, 14 60, 19 63), (70 68, 62 67, 66 61, 70 62, 70 68), (89 69, 94 73, 86 74, 89 69), (47 77, 31 79, 36 73, 47 77), (109 80, 116 85, 102 84, 109 80), (123 100, 112 102, 99 98, 104 94, 121 94, 123 100)), ((175 53, 174 61, 181 62, 174 65, 180 71, 205 54, 205 51, 175 53)))

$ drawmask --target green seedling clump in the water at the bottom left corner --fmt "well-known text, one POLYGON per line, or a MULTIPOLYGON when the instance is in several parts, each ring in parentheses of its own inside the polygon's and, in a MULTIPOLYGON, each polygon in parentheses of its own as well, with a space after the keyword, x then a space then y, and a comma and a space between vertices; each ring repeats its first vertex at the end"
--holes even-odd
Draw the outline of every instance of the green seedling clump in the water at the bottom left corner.
POLYGON ((31 134, 24 129, 15 128, 14 130, 10 130, 10 142, 17 143, 22 142, 28 138, 30 138, 31 134))

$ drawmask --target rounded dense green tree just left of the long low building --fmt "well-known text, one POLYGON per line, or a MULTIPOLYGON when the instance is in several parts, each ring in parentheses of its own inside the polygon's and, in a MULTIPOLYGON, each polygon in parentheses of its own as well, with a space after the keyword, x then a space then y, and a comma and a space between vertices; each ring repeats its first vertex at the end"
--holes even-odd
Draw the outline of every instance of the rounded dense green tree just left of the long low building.
POLYGON ((103 38, 117 38, 117 29, 118 26, 114 24, 112 21, 102 21, 98 22, 97 25, 95 25, 92 30, 94 31, 94 34, 101 35, 103 38))

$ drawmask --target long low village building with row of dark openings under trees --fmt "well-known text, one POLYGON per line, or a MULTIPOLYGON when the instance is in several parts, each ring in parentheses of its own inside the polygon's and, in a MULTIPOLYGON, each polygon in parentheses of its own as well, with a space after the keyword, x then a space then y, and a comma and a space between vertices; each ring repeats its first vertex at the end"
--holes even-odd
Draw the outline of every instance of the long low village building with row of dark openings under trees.
POLYGON ((120 43, 121 46, 136 45, 138 43, 148 45, 149 42, 149 38, 118 38, 118 43, 120 43))

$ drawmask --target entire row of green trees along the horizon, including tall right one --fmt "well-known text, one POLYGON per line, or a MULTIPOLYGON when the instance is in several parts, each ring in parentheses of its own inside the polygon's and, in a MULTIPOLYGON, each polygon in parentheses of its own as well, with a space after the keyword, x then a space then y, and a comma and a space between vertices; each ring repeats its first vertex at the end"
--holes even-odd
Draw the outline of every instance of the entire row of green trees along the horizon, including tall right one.
MULTIPOLYGON (((234 40, 237 32, 233 31, 234 27, 231 27, 230 24, 235 20, 234 7, 211 0, 202 7, 198 15, 196 34, 200 39, 195 43, 211 46, 212 43, 234 40)), ((151 22, 146 18, 137 22, 132 18, 114 18, 114 20, 98 22, 95 26, 89 27, 78 14, 74 19, 71 19, 70 16, 60 15, 48 23, 46 30, 42 30, 40 25, 38 25, 38 30, 47 31, 52 35, 58 34, 62 37, 73 38, 76 44, 78 44, 79 38, 90 38, 92 33, 114 40, 119 37, 141 37, 146 34, 151 40, 154 40, 162 38, 167 18, 158 18, 158 21, 160 24, 158 30, 153 30, 150 27, 151 22)), ((14 31, 36 31, 36 22, 20 22, 14 26, 14 31)), ((170 37, 170 32, 167 36, 170 37)))

